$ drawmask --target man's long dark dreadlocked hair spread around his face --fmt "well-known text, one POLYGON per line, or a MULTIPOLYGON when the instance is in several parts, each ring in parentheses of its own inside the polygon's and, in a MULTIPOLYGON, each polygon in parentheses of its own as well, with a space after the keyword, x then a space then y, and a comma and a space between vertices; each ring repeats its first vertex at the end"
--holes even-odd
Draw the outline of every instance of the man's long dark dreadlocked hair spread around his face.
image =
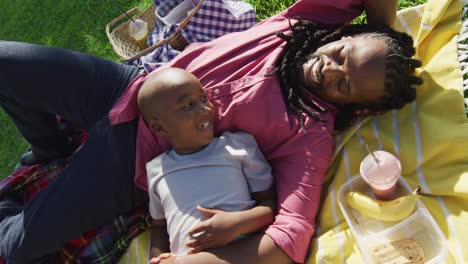
MULTIPOLYGON (((385 41, 387 44, 385 90, 384 96, 375 102, 350 104, 344 107, 337 105, 339 112, 335 117, 335 129, 342 130, 349 126, 355 118, 354 110, 367 108, 371 112, 380 112, 400 109, 416 98, 416 85, 421 84, 422 79, 413 73, 421 66, 421 62, 411 58, 415 54, 415 49, 413 39, 409 35, 385 26, 357 24, 336 28, 301 20, 290 25, 290 28, 291 35, 277 33, 277 36, 286 41, 286 45, 279 56, 274 73, 278 77, 286 104, 296 112, 303 129, 303 113, 315 120, 324 121, 321 113, 326 110, 307 99, 298 72, 312 52, 345 36, 367 35, 385 41)), ((309 89, 309 92, 314 91, 309 89)))

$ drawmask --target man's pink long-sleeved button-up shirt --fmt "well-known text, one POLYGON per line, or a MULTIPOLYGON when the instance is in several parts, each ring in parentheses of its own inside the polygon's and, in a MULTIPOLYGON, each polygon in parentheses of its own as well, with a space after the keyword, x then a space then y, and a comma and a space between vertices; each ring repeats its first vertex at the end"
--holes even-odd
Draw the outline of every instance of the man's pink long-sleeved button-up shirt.
MULTIPOLYGON (((322 23, 350 21, 362 11, 358 0, 302 0, 253 28, 208 43, 191 44, 163 67, 184 68, 197 76, 217 109, 215 133, 252 134, 272 166, 278 215, 265 231, 295 262, 304 262, 315 230, 323 176, 333 151, 334 108, 311 96, 323 108, 326 122, 305 117, 304 133, 295 113, 287 111, 275 66, 284 41, 276 32, 289 31, 289 18, 322 23)), ((159 68, 162 69, 163 67, 159 68)), ((156 69, 155 71, 158 71, 156 69)), ((112 125, 139 116, 137 93, 148 75, 136 77, 110 113, 112 125)), ((135 184, 147 189, 145 165, 171 146, 156 137, 140 118, 135 184)))

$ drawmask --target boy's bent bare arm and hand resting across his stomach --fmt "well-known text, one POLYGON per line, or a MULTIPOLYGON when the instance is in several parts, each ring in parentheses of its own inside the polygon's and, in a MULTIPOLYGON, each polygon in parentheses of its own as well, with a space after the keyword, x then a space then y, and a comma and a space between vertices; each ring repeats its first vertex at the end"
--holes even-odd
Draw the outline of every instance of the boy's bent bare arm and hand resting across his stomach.
POLYGON ((256 206, 237 212, 198 207, 210 219, 189 231, 196 237, 187 243, 189 253, 225 246, 240 235, 258 231, 273 222, 276 213, 276 195, 273 188, 252 193, 256 206), (197 233, 204 232, 200 235, 197 233))

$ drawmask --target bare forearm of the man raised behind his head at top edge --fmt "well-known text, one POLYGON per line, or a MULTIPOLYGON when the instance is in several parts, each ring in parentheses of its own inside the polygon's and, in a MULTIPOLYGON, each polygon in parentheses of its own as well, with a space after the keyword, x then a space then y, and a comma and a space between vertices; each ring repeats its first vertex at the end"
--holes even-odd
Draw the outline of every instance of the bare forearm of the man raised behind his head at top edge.
POLYGON ((373 25, 393 26, 396 18, 397 0, 368 0, 365 1, 364 10, 367 22, 373 25))

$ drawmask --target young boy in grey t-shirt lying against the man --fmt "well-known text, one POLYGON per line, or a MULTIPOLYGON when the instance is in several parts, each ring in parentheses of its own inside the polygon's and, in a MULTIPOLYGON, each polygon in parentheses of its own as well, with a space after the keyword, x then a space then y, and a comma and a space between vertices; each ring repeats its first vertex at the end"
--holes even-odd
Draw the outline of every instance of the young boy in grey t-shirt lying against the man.
POLYGON ((146 166, 151 263, 169 250, 183 255, 224 246, 273 221, 269 164, 247 133, 214 138, 214 106, 195 76, 161 70, 142 86, 138 106, 151 130, 173 146, 146 166))

